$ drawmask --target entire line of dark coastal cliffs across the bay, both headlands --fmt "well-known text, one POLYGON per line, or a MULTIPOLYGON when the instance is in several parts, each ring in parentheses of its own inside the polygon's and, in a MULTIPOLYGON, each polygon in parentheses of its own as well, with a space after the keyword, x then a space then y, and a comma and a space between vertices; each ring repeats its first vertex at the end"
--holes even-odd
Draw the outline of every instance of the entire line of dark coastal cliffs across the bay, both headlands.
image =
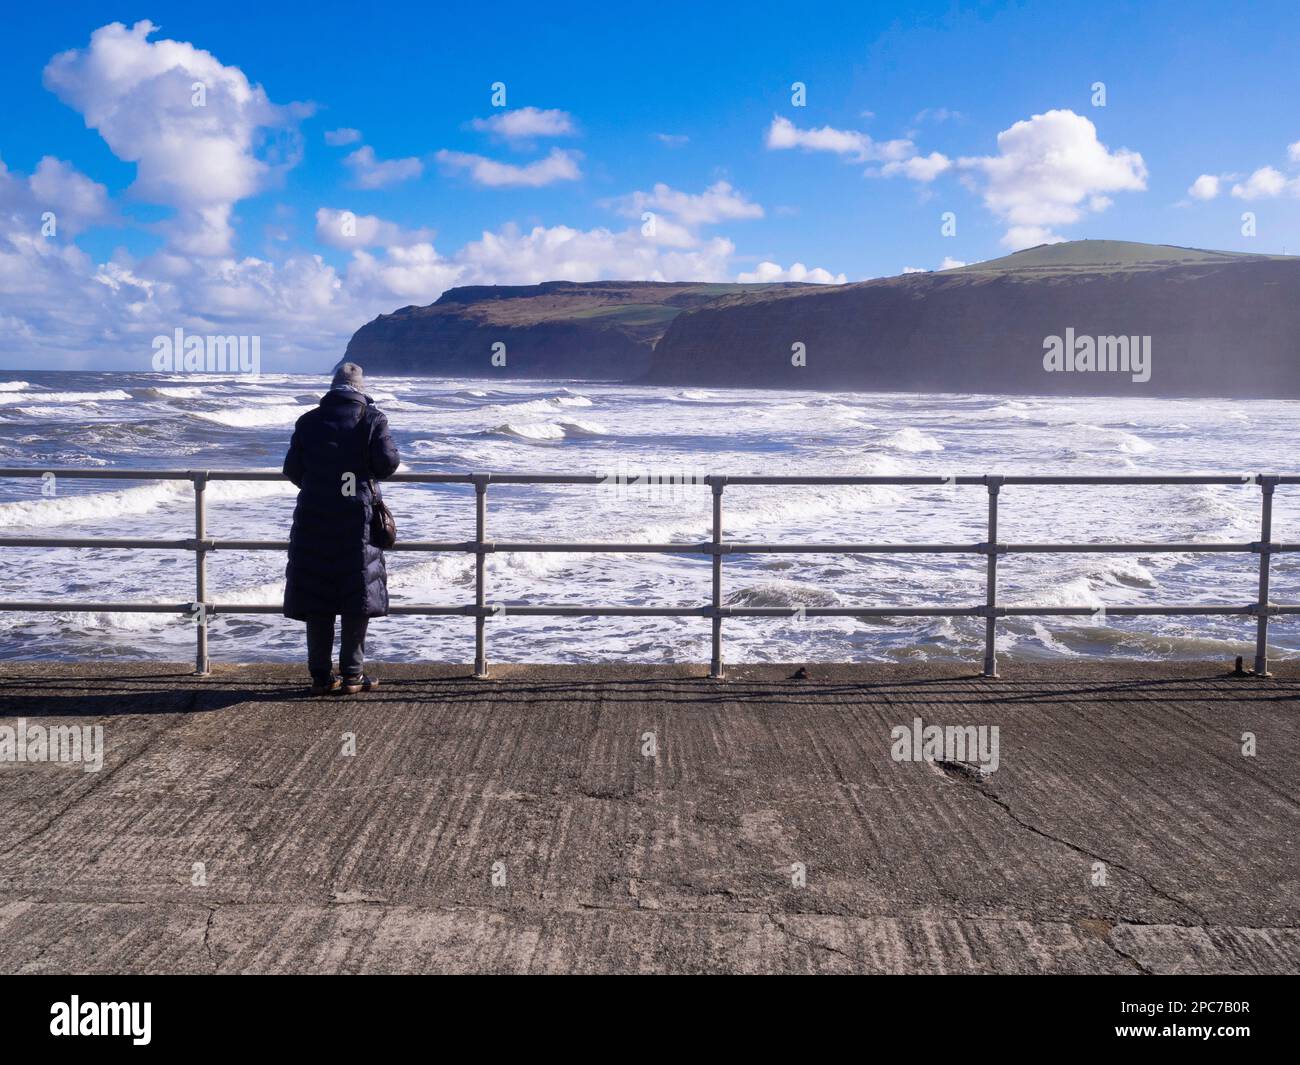
POLYGON ((854 285, 452 289, 381 315, 344 358, 503 380, 1297 398, 1300 259, 1075 241, 854 285))

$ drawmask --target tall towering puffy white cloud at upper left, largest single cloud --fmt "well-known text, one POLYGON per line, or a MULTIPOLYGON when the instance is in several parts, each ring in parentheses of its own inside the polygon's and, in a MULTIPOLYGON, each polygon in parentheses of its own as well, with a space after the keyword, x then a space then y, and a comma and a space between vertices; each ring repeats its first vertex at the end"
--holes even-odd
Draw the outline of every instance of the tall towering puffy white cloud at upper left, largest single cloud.
POLYGON ((135 164, 133 194, 176 209, 165 229, 178 251, 222 255, 233 204, 296 163, 296 124, 309 109, 273 104, 239 68, 192 44, 151 42, 155 30, 147 20, 101 26, 88 47, 55 56, 44 83, 135 164))

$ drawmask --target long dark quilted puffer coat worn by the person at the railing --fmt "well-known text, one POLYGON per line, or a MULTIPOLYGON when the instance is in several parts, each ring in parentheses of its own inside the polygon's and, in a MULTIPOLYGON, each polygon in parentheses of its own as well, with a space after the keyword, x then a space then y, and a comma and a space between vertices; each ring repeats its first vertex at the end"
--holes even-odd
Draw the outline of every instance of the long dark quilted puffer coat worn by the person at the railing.
POLYGON ((285 476, 298 485, 285 616, 389 612, 384 551, 370 544, 370 486, 398 468, 389 420, 359 391, 332 390, 294 427, 285 476), (355 473, 355 492, 344 486, 355 473))

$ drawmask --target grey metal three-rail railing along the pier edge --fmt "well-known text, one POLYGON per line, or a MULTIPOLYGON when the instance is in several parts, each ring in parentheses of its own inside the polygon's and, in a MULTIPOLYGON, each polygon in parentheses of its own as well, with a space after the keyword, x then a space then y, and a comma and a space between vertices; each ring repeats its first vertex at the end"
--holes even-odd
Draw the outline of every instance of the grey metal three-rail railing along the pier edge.
MULTIPOLYGON (((283 551, 289 542, 282 540, 214 540, 207 534, 207 495, 211 481, 281 481, 283 476, 270 471, 238 469, 27 469, 0 468, 0 477, 77 477, 94 480, 181 480, 194 484, 194 537, 186 540, 134 540, 104 537, 0 537, 0 547, 122 547, 151 550, 181 550, 195 553, 195 598, 188 603, 156 602, 20 602, 0 601, 4 611, 96 611, 96 612, 152 612, 183 614, 196 623, 195 672, 207 674, 208 619, 217 614, 280 614, 280 606, 265 603, 214 603, 208 599, 207 559, 213 551, 283 551)), ((514 542, 488 538, 488 486, 489 485, 636 485, 638 479, 620 480, 607 473, 396 473, 390 482, 463 484, 474 490, 474 538, 469 541, 399 542, 394 551, 460 551, 474 557, 474 602, 465 606, 395 605, 391 614, 459 615, 474 619, 474 676, 488 676, 486 620, 500 612, 489 606, 486 586, 486 557, 508 551, 563 551, 572 554, 681 554, 706 555, 711 559, 712 598, 705 606, 510 606, 515 616, 590 618, 590 616, 644 616, 644 618, 708 618, 712 625, 712 655, 710 676, 723 677, 722 625, 724 618, 983 618, 984 619, 984 675, 997 676, 994 637, 998 618, 1024 616, 1091 616, 1093 606, 1000 606, 997 601, 997 560, 1008 554, 1100 553, 1100 554, 1206 554, 1245 553, 1258 555, 1258 597, 1240 606, 1167 605, 1167 606, 1112 606, 1105 612, 1113 616, 1225 616, 1243 615, 1256 619, 1254 672, 1269 675, 1269 618, 1300 614, 1300 605, 1279 606, 1269 602, 1269 560, 1282 551, 1300 550, 1300 544, 1273 542, 1273 494, 1279 484, 1300 484, 1300 475, 1206 475, 1206 476, 914 476, 914 477, 763 477, 680 476, 654 479, 653 484, 703 484, 712 490, 712 534, 698 544, 599 544, 599 542, 514 542), (1243 485, 1256 484, 1261 490, 1260 538, 1249 544, 1000 544, 997 540, 998 497, 1008 485, 1243 485), (723 540, 723 490, 750 485, 785 486, 939 486, 982 485, 988 492, 988 536, 978 544, 762 544, 727 542, 723 540), (745 607, 723 603, 723 559, 741 554, 976 554, 987 558, 984 602, 966 606, 914 606, 914 607, 745 607)), ((3 570, 0 570, 3 584, 3 570)))

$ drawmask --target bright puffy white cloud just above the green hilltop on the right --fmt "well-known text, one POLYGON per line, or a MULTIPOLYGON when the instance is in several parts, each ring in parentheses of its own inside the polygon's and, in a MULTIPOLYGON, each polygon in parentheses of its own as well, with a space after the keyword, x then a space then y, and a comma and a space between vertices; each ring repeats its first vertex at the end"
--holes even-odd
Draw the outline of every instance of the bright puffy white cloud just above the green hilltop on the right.
POLYGON ((1023 248, 1063 239, 1053 226, 1104 211, 1106 192, 1147 187, 1147 165, 1138 152, 1110 151, 1097 127, 1072 111, 1048 111, 1015 122, 997 135, 998 153, 958 160, 983 179, 984 205, 1009 225, 1002 243, 1023 248))

